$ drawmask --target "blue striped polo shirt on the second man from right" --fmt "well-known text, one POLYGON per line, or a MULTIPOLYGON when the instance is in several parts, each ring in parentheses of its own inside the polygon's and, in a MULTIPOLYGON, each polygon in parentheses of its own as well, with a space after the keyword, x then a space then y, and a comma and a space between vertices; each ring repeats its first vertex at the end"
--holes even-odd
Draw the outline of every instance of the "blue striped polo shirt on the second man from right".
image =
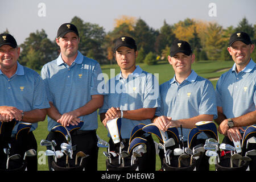
MULTIPOLYGON (((216 98, 212 83, 200 77, 192 70, 191 74, 181 83, 175 76, 160 85, 161 106, 156 109, 156 115, 166 115, 173 120, 188 119, 201 114, 211 114, 217 118, 216 98)), ((178 127, 179 135, 181 134, 178 127)), ((189 131, 183 127, 183 137, 187 140, 189 131)), ((197 139, 206 139, 201 133, 197 139)))

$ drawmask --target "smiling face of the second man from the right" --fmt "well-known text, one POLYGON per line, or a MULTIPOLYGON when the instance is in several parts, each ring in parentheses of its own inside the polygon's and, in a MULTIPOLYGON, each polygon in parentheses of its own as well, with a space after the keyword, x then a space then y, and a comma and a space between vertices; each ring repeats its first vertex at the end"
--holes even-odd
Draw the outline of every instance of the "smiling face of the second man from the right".
POLYGON ((182 52, 176 53, 174 57, 168 56, 168 61, 174 68, 175 74, 187 75, 191 73, 191 64, 195 60, 195 55, 185 55, 182 52))

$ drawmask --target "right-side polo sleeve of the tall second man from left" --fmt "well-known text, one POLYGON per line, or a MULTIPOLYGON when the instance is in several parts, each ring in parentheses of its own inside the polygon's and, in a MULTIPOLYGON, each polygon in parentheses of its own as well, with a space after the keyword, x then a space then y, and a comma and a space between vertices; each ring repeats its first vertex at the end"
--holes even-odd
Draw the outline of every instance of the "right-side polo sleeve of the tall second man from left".
POLYGON ((92 81, 91 81, 91 84, 90 84, 90 94, 91 95, 104 94, 104 93, 101 92, 102 89, 98 88, 98 86, 102 86, 102 79, 98 79, 98 75, 100 75, 100 74, 102 74, 100 64, 96 63, 96 65, 93 69, 93 72, 92 72, 92 81))

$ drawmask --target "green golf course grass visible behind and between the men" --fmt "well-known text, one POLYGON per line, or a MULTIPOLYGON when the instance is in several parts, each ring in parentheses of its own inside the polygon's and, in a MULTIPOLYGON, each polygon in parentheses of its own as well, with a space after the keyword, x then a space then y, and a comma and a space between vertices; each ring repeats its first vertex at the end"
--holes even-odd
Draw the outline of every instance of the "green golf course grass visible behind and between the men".
MULTIPOLYGON (((231 68, 233 65, 233 61, 199 61, 192 64, 192 69, 199 75, 205 78, 213 78, 213 77, 220 77, 220 75, 224 72, 216 72, 220 69, 224 68, 231 68)), ((172 77, 174 77, 174 71, 172 69, 172 66, 168 64, 167 61, 162 61, 160 64, 157 65, 146 65, 146 64, 138 64, 140 67, 147 72, 150 72, 152 74, 158 73, 159 74, 159 84, 162 84, 163 82, 166 82, 170 80, 172 77)), ((110 78, 110 69, 115 69, 115 75, 117 75, 120 72, 120 69, 117 64, 113 65, 101 65, 101 69, 103 73, 106 73, 108 77, 110 78)), ((114 75, 114 76, 115 76, 114 75)), ((212 81, 212 84, 214 87, 216 86, 217 80, 212 81)), ((34 131, 36 140, 38 142, 38 152, 40 151, 46 151, 46 147, 40 146, 40 140, 46 139, 46 136, 48 134, 47 131, 47 119, 44 122, 39 122, 38 129, 34 131)), ((108 141, 107 137, 107 130, 100 122, 100 119, 98 119, 98 129, 97 134, 100 136, 100 138, 108 141)), ((154 137, 154 136, 153 136, 154 137)), ((220 142, 223 139, 223 135, 219 134, 220 142)), ((154 140, 156 142, 159 142, 158 139, 154 137, 154 140)), ((98 170, 104 171, 106 170, 105 165, 105 156, 102 154, 104 151, 104 148, 100 148, 98 152, 98 170)), ((48 170, 48 163, 47 159, 41 154, 38 156, 40 164, 38 164, 38 170, 39 171, 47 171, 48 170), (45 164, 44 164, 45 163, 45 164)), ((160 169, 160 159, 159 156, 156 156, 156 170, 160 169)), ((214 170, 214 166, 210 166, 211 170, 214 170)))

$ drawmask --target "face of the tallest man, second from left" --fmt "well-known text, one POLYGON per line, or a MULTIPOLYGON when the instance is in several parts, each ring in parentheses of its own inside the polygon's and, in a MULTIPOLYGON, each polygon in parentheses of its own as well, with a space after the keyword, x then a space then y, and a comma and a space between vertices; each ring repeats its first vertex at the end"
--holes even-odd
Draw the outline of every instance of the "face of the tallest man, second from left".
POLYGON ((79 37, 74 32, 68 32, 63 38, 56 38, 56 43, 60 46, 61 55, 73 57, 77 54, 79 37))

